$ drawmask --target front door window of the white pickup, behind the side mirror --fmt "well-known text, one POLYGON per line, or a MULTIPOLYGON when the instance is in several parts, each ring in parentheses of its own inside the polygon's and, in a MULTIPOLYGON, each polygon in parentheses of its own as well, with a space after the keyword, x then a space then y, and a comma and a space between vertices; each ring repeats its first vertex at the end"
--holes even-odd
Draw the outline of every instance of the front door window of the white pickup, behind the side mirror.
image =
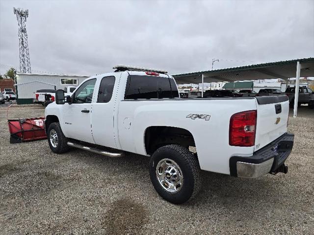
POLYGON ((96 78, 85 81, 74 94, 74 103, 92 103, 96 78))

